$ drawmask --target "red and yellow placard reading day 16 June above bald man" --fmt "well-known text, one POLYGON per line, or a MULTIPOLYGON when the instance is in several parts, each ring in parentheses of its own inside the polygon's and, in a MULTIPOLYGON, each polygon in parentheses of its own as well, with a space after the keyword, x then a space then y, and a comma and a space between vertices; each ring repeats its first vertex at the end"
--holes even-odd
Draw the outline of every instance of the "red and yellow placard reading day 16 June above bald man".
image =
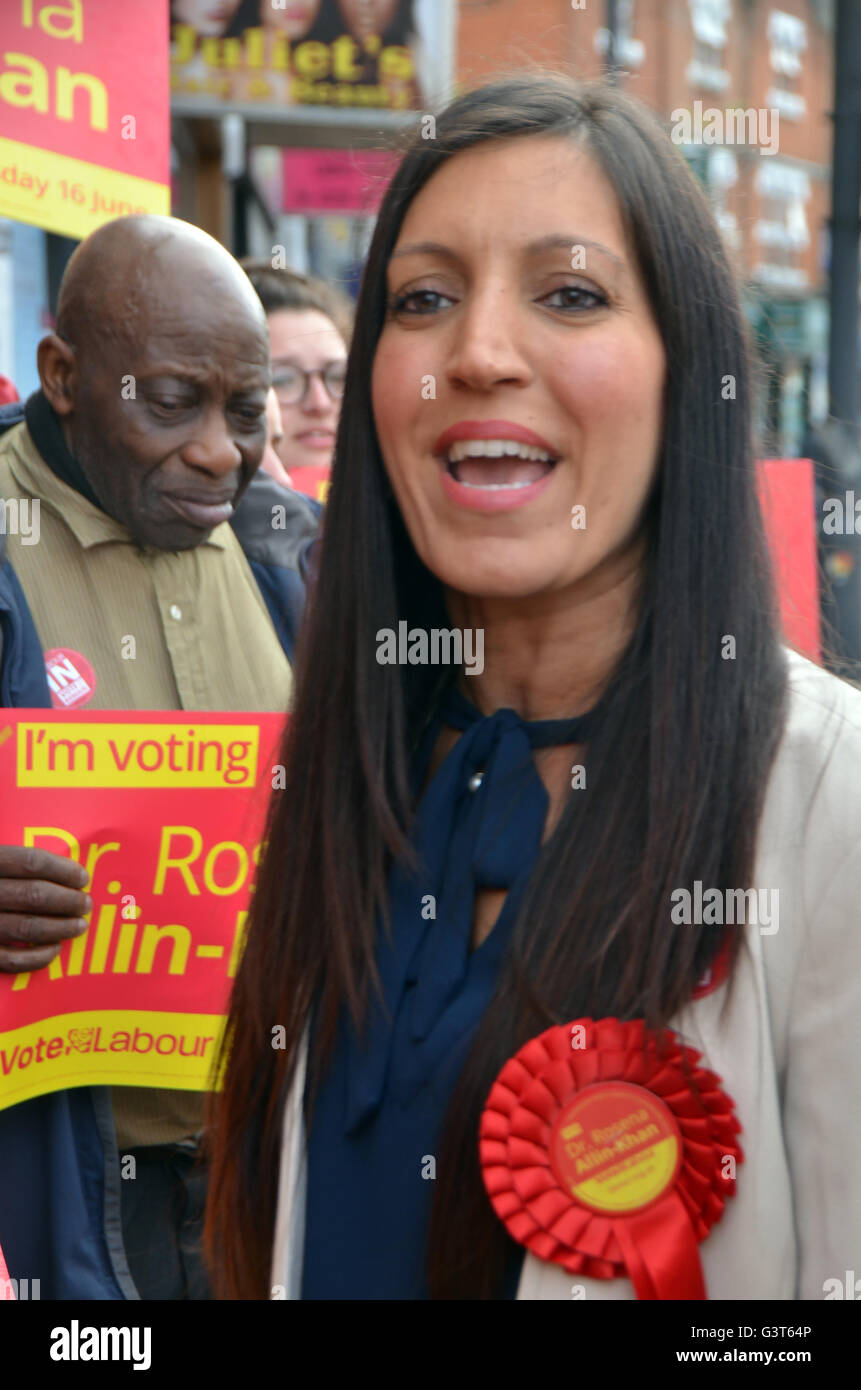
POLYGON ((0 217, 86 236, 170 213, 164 0, 4 0, 0 217))

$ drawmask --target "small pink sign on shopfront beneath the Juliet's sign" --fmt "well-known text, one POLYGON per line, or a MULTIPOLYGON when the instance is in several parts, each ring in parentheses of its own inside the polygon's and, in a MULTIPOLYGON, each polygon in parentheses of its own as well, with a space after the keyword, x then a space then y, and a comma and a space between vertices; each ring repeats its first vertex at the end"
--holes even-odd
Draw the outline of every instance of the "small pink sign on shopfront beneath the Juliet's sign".
POLYGON ((389 150, 285 150, 285 213, 377 213, 398 167, 389 150))

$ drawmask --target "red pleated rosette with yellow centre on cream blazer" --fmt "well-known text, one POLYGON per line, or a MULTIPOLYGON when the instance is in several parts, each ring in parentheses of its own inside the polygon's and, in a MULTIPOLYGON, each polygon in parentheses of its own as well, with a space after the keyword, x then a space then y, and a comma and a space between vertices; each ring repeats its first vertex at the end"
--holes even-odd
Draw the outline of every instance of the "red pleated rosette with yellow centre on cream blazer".
POLYGON ((480 1159, 510 1236, 572 1275, 627 1275, 638 1298, 705 1298, 700 1241, 743 1162, 721 1079, 670 1029, 577 1019, 505 1063, 480 1159), (733 1162, 727 1162, 733 1159, 733 1162))

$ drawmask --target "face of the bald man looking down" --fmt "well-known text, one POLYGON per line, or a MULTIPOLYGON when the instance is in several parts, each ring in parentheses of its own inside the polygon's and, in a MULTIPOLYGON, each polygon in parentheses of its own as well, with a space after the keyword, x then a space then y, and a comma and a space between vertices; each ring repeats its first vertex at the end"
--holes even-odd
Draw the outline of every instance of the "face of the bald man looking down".
POLYGON ((125 346, 99 349, 96 331, 78 352, 67 417, 104 510, 160 550, 192 549, 227 521, 266 446, 263 316, 217 277, 181 279, 147 297, 125 346))

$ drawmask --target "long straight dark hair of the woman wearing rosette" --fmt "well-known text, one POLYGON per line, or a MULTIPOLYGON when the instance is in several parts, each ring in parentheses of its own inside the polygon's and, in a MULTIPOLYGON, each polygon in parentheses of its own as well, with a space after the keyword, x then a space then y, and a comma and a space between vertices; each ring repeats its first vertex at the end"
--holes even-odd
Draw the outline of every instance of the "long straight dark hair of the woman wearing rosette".
MULTIPOLYGON (((388 866, 406 852, 410 752, 437 698, 433 667, 376 659, 380 628, 446 623, 441 585, 387 488, 371 414, 387 263, 406 208, 445 160, 536 135, 577 142, 616 190, 666 352, 663 445, 640 620, 606 689, 588 790, 569 798, 542 848, 448 1111, 433 1297, 498 1295, 510 1245, 481 1186, 477 1129, 502 1063, 529 1037, 579 1016, 672 1019, 721 942, 714 927, 672 924, 670 894, 697 878, 743 888, 754 872, 786 677, 736 285, 702 193, 648 111, 608 86, 506 78, 459 97, 434 139, 415 139, 364 271, 282 752, 287 787, 271 803, 225 1090, 213 1108, 207 1251, 227 1297, 268 1297, 281 1120, 302 1031, 319 997, 319 1074, 342 1008, 363 1015, 388 866), (277 1024, 285 1048, 271 1045, 277 1024)), ((572 652, 572 669, 576 660, 572 652)))

